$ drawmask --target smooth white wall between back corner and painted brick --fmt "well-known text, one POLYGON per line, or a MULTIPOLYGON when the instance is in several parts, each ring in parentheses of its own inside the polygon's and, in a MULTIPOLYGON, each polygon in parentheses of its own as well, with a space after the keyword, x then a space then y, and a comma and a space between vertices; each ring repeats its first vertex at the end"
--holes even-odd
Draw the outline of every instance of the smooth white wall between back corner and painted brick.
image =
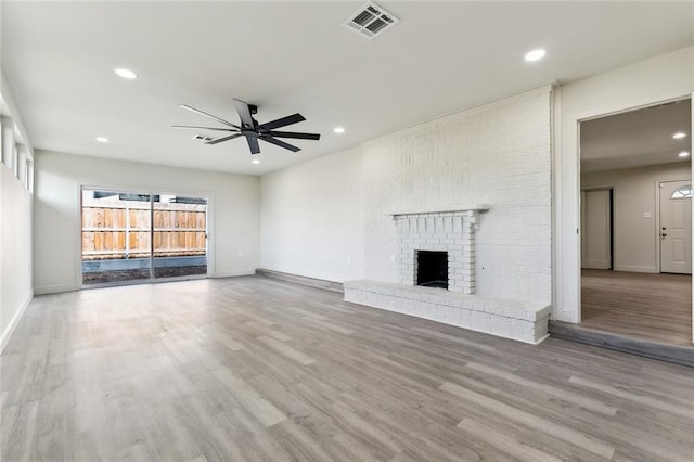
POLYGON ((363 278, 361 150, 262 177, 262 268, 329 281, 363 278))

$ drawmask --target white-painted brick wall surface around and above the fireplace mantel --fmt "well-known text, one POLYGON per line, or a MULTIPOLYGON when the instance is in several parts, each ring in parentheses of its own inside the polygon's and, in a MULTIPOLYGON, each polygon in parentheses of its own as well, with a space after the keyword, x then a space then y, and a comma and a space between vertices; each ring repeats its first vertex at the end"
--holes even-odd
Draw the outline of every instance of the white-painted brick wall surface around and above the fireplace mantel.
POLYGON ((550 97, 525 93, 364 144, 365 277, 401 282, 388 214, 489 204, 475 231, 475 292, 550 305, 550 97))

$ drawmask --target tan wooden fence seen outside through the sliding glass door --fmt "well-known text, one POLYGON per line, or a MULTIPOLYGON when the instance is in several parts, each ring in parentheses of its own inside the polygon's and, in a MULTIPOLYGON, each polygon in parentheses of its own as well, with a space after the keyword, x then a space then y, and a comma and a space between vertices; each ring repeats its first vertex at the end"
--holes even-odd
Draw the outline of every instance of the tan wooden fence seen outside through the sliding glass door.
POLYGON ((206 205, 154 203, 154 232, 150 204, 137 201, 82 204, 82 259, 149 258, 205 255, 206 205))

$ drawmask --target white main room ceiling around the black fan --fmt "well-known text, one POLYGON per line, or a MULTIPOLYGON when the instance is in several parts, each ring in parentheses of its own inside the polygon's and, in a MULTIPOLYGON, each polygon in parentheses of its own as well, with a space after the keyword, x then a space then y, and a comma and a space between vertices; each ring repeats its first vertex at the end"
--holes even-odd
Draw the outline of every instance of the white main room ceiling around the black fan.
POLYGON ((400 24, 373 41, 340 25, 361 4, 4 1, 2 67, 36 147, 264 174, 694 43, 692 2, 383 1, 400 24), (548 56, 526 63, 535 48, 548 56), (252 165, 243 139, 170 128, 208 125, 181 103, 235 121, 232 98, 260 123, 299 112, 286 129, 322 139, 261 143, 252 165))

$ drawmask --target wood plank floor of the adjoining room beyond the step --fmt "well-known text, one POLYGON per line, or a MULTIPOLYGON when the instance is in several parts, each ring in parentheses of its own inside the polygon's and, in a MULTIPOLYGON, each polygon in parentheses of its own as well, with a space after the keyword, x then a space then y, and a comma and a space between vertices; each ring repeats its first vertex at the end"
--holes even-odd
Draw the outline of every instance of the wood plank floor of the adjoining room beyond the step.
POLYGON ((692 344, 692 277, 583 269, 581 326, 692 344))

